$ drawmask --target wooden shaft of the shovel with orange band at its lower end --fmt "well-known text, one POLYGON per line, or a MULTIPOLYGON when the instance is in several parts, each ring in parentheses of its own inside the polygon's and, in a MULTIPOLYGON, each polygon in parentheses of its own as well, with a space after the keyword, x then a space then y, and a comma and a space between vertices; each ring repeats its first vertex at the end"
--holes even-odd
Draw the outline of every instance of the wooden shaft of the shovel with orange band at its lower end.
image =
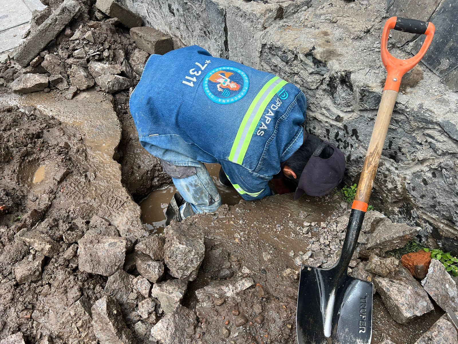
POLYGON ((354 198, 357 201, 364 202, 366 209, 369 198, 371 197, 372 184, 377 173, 378 163, 382 155, 383 144, 387 136, 396 98, 398 98, 398 92, 391 89, 383 91, 374 129, 372 130, 371 142, 369 142, 369 147, 367 148, 366 159, 361 172, 360 182, 358 183, 358 189, 356 190, 356 197, 354 198))

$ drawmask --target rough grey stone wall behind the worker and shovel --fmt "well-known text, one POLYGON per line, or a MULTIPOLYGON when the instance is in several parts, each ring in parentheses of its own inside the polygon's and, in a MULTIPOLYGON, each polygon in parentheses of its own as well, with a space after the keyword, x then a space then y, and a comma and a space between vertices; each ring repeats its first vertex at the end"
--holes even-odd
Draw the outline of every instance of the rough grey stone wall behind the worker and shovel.
MULTIPOLYGON (((199 44, 298 85, 309 130, 344 150, 347 181, 357 181, 386 78, 385 1, 121 3, 177 45, 199 44)), ((406 58, 412 44, 390 49, 406 58)), ((458 239, 457 105, 458 95, 425 66, 403 78, 372 197, 377 209, 418 223, 441 244, 458 239)))

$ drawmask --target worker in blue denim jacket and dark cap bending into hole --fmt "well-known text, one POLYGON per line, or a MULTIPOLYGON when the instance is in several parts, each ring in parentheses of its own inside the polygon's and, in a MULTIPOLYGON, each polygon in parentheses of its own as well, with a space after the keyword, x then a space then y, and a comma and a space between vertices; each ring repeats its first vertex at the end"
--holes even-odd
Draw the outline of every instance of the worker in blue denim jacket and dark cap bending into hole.
POLYGON ((278 175, 295 183, 295 199, 324 195, 344 176, 344 154, 304 131, 298 87, 196 45, 151 55, 129 106, 140 143, 179 192, 167 223, 221 205, 203 163, 221 164, 220 181, 245 200, 272 195, 278 175))

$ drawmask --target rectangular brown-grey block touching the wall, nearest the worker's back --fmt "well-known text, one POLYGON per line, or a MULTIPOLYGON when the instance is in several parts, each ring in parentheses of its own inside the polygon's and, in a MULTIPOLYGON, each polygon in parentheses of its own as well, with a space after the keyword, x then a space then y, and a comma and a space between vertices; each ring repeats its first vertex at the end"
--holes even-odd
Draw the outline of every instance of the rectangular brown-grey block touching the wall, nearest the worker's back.
POLYGON ((147 26, 131 28, 131 38, 149 54, 164 55, 173 50, 172 37, 147 26))

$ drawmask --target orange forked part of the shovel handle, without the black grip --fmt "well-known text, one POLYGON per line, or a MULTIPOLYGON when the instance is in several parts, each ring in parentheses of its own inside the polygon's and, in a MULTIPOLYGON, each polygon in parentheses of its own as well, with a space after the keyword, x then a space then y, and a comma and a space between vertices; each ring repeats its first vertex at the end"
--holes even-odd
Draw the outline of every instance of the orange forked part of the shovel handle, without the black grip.
POLYGON ((428 22, 428 28, 425 31, 425 42, 423 42, 420 51, 417 55, 410 57, 409 59, 401 60, 388 52, 388 35, 390 30, 395 28, 397 21, 398 17, 391 17, 385 23, 382 33, 382 45, 380 47, 382 62, 388 72, 387 81, 385 82, 385 88, 383 90, 392 89, 396 92, 399 91, 403 75, 415 67, 423 58, 423 55, 425 55, 426 50, 428 50, 431 44, 434 32, 436 31, 434 24, 432 22, 428 22))

